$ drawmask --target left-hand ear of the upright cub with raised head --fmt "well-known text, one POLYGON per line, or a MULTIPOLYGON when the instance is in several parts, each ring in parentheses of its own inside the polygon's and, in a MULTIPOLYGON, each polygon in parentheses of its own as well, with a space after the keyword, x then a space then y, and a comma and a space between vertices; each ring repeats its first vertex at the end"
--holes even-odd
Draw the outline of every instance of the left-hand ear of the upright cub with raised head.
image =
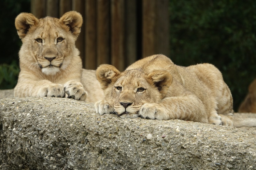
POLYGON ((20 39, 23 39, 29 29, 38 24, 38 19, 30 13, 20 13, 15 18, 15 27, 20 39))

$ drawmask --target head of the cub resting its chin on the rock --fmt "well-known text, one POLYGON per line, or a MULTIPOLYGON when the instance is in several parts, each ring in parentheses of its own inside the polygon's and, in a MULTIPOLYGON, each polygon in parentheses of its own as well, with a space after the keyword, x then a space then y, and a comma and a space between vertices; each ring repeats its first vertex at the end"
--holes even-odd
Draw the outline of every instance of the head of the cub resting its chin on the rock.
POLYGON ((166 70, 146 73, 142 69, 132 69, 120 72, 107 64, 97 68, 96 76, 105 100, 114 106, 114 112, 121 118, 136 118, 143 104, 159 103, 172 83, 172 75, 166 70))

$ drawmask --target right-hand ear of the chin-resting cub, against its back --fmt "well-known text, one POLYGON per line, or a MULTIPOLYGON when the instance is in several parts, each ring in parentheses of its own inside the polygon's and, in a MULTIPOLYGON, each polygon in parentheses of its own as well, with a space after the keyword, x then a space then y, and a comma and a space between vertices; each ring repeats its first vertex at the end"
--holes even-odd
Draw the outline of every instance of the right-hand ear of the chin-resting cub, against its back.
POLYGON ((172 84, 172 75, 166 70, 157 70, 147 75, 161 94, 166 94, 172 84))

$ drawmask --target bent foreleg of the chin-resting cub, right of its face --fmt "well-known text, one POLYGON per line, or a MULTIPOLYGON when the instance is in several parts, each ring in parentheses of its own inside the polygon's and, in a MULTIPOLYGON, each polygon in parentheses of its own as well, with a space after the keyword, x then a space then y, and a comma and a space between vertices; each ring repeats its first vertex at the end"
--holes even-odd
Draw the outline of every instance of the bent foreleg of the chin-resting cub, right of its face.
MULTIPOLYGON (((203 103, 194 95, 169 97, 160 103, 143 104, 139 110, 142 118, 209 123, 203 103)), ((219 121, 221 122, 221 120, 219 121)))

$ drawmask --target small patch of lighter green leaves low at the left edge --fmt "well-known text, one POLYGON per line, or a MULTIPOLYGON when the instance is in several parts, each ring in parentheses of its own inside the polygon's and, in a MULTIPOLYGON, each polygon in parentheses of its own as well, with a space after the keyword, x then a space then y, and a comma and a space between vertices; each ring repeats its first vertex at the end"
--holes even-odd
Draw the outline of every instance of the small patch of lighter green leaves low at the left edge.
POLYGON ((19 66, 16 62, 12 64, 0 64, 0 89, 14 88, 17 84, 19 66))

